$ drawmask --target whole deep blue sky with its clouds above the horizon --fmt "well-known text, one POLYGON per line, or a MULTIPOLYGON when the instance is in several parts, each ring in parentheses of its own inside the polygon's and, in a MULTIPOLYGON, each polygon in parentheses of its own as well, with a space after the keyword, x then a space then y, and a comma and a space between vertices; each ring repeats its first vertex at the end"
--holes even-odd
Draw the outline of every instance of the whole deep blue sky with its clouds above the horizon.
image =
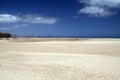
POLYGON ((0 32, 120 37, 120 0, 0 0, 0 32))

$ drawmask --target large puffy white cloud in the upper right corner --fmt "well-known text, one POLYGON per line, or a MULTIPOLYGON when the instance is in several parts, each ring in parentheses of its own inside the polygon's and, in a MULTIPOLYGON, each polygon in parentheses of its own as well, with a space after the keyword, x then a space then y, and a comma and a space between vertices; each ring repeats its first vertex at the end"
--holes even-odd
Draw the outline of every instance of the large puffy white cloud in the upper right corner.
POLYGON ((84 3, 85 7, 80 9, 78 13, 88 14, 95 17, 107 17, 117 13, 120 8, 120 0, 79 0, 84 3))

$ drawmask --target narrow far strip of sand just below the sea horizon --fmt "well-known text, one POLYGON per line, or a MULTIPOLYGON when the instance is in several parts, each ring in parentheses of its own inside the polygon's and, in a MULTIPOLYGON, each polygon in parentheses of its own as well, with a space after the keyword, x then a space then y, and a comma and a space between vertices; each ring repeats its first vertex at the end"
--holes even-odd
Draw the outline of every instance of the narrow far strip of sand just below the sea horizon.
POLYGON ((16 38, 11 42, 44 42, 44 41, 120 41, 120 38, 16 38))

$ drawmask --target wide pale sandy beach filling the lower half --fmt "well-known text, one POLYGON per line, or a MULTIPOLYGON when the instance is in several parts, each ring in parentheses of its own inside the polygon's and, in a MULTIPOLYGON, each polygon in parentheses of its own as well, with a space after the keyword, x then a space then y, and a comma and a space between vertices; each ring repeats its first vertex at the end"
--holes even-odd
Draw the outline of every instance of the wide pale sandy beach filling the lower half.
POLYGON ((0 80, 120 80, 120 39, 0 40, 0 80))

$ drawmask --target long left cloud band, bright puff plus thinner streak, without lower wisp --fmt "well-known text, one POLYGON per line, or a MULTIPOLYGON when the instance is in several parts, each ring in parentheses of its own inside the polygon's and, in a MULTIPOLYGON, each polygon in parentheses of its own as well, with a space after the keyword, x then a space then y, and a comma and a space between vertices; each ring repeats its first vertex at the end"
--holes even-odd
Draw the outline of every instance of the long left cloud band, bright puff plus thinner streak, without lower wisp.
POLYGON ((23 15, 16 16, 12 14, 0 14, 0 23, 16 23, 16 22, 27 22, 34 24, 55 24, 58 21, 57 18, 35 16, 35 15, 23 15))

